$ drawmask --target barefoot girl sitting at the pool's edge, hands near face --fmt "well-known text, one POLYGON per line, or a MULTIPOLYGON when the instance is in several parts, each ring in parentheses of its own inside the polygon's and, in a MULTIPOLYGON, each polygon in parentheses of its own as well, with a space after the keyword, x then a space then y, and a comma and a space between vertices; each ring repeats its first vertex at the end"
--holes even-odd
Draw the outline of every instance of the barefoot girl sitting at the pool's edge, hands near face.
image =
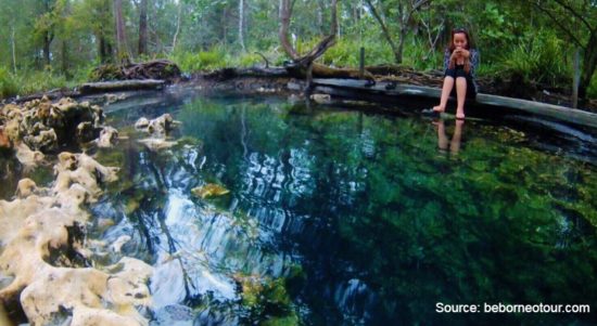
POLYGON ((471 39, 463 28, 452 30, 452 40, 444 53, 444 86, 440 105, 433 110, 442 113, 446 109, 449 95, 456 95, 456 118, 465 119, 465 100, 477 96, 474 71, 479 63, 479 52, 471 49, 471 39), (456 87, 454 84, 456 83, 456 87), (454 92, 456 89, 456 94, 454 92))

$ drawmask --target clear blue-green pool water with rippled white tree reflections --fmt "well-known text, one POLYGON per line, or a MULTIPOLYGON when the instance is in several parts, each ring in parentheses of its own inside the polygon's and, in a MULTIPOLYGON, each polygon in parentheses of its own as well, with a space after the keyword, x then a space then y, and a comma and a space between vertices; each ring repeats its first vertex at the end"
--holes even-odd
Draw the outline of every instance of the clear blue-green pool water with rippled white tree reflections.
POLYGON ((590 140, 581 154, 554 152, 539 136, 467 121, 455 153, 454 120, 439 140, 408 114, 285 100, 187 100, 109 117, 129 140, 99 153, 122 181, 93 207, 90 238, 130 237, 98 263, 124 255, 155 268, 154 325, 596 322, 434 312, 436 302, 597 309, 590 140), (182 121, 179 145, 150 152, 130 126, 166 112, 182 121), (230 194, 191 194, 207 183, 230 194))

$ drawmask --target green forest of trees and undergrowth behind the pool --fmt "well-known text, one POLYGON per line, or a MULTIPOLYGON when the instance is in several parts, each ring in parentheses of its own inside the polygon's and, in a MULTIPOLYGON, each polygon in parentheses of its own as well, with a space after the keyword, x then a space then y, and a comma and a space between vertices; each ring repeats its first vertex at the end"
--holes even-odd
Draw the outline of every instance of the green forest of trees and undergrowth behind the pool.
MULTIPOLYGON (((293 0, 291 40, 308 51, 329 31, 328 0, 293 0)), ((0 97, 73 87, 103 63, 166 57, 186 73, 274 65, 278 0, 0 0, 0 97), (263 55, 263 56, 262 56, 263 55)), ((593 0, 343 0, 336 43, 318 62, 442 68, 455 27, 481 52, 480 77, 517 76, 548 92, 597 97, 593 0), (579 69, 574 68, 575 56, 579 69)))

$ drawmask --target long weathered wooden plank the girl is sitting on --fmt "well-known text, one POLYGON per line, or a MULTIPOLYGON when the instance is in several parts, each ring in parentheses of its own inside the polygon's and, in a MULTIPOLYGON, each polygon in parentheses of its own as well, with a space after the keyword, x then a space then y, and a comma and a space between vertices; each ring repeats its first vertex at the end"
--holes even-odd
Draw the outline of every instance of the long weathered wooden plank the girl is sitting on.
MULTIPOLYGON (((328 92, 336 92, 341 96, 358 96, 358 93, 396 96, 419 96, 428 99, 440 99, 441 89, 411 86, 411 84, 392 84, 391 82, 380 81, 371 87, 367 87, 365 80, 358 79, 319 79, 313 80, 314 86, 328 92), (343 90, 343 91, 340 91, 343 90)), ((528 100, 512 99, 498 95, 480 93, 472 105, 488 106, 496 110, 510 110, 517 113, 532 114, 539 117, 550 118, 552 120, 566 121, 574 125, 581 125, 597 128, 597 114, 570 108, 560 105, 533 102, 528 100)), ((503 113, 503 112, 500 112, 503 113)))

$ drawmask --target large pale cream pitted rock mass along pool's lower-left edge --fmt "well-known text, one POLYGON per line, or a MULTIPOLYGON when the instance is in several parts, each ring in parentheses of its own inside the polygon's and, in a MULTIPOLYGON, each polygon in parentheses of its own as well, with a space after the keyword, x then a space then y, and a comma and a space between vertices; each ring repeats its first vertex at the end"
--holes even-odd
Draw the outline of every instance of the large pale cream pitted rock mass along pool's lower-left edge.
POLYGON ((150 265, 131 258, 103 269, 56 266, 49 260, 56 251, 85 257, 72 232, 85 225, 85 205, 98 198, 101 183, 116 180, 117 169, 72 153, 61 153, 54 169, 51 190, 23 179, 14 200, 0 200, 0 273, 13 276, 0 289, 0 300, 21 302, 31 325, 52 325, 56 318, 69 325, 148 325, 138 309, 151 305, 150 265))

